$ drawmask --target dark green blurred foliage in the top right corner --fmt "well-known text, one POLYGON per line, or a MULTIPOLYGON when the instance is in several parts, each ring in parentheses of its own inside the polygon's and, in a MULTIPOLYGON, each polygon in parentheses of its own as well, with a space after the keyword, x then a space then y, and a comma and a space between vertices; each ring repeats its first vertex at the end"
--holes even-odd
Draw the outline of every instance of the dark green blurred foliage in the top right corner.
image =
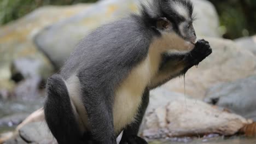
POLYGON ((256 33, 255 0, 209 0, 219 14, 223 37, 235 39, 256 33))

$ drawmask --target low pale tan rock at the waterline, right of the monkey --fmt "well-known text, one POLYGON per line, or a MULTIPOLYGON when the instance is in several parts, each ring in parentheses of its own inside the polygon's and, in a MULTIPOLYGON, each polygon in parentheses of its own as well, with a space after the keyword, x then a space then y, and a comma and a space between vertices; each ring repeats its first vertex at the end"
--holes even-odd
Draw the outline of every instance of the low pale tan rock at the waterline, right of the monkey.
POLYGON ((143 136, 159 139, 205 134, 234 135, 247 119, 220 111, 202 101, 178 99, 147 113, 143 136))

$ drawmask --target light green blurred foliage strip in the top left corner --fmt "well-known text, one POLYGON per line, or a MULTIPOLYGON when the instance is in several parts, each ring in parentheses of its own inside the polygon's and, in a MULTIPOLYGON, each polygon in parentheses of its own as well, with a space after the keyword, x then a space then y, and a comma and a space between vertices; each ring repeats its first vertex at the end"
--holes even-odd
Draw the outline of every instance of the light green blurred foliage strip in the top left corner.
POLYGON ((69 5, 96 1, 97 0, 0 0, 0 25, 19 19, 43 5, 69 5))

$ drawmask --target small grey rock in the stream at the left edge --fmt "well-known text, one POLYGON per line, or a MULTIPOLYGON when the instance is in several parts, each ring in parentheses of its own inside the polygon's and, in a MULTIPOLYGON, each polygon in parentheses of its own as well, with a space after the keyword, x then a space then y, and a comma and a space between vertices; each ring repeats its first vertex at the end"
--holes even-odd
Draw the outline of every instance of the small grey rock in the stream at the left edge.
POLYGON ((0 128, 1 127, 13 127, 14 125, 20 124, 26 117, 27 113, 15 113, 14 115, 5 116, 0 118, 0 128))

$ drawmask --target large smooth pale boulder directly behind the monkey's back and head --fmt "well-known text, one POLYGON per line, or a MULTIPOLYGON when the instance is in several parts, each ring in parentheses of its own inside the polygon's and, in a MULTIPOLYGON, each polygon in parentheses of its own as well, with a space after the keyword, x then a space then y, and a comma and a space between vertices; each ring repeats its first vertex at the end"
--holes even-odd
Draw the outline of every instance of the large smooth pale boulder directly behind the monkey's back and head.
MULTIPOLYGON (((213 5, 205 0, 193 0, 197 35, 218 37, 218 16, 213 5)), ((81 13, 45 28, 35 38, 35 43, 46 53, 57 68, 63 65, 75 45, 92 29, 127 16, 138 13, 138 0, 108 0, 100 1, 81 13), (63 43, 65 41, 65 43, 63 43)))

